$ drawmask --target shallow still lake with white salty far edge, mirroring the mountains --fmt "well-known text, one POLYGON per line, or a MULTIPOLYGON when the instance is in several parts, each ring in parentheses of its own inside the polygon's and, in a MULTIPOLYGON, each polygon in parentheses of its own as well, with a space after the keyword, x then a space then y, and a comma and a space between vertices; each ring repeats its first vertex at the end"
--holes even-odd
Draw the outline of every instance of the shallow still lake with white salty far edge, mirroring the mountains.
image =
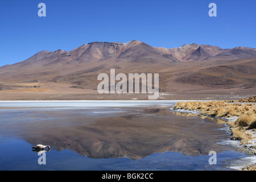
POLYGON ((0 170, 234 170, 255 162, 227 126, 175 113, 175 103, 0 102, 0 170), (32 151, 36 144, 51 149, 32 151))

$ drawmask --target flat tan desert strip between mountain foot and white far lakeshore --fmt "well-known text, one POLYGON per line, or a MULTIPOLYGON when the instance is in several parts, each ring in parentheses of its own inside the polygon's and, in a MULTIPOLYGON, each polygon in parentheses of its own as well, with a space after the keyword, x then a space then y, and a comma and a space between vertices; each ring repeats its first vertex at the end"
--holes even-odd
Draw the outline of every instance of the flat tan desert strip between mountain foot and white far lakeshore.
MULTIPOLYGON (((148 100, 146 94, 99 94, 95 89, 71 88, 67 83, 19 83, 15 89, 1 90, 1 101, 22 100, 148 100)), ((185 90, 160 92, 158 100, 239 100, 255 95, 253 89, 185 90)))

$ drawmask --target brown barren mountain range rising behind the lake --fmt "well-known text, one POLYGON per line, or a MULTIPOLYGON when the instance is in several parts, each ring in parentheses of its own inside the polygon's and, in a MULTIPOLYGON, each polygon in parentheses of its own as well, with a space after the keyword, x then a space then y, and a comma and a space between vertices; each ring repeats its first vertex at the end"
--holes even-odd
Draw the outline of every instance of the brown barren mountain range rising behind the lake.
POLYGON ((239 92, 247 97, 256 87, 255 48, 199 44, 163 48, 131 40, 92 42, 71 51, 41 51, 0 67, 0 100, 69 99, 66 96, 71 94, 88 98, 88 93, 98 95, 97 75, 109 74, 111 68, 125 74, 159 73, 160 92, 169 97, 192 92, 239 92))

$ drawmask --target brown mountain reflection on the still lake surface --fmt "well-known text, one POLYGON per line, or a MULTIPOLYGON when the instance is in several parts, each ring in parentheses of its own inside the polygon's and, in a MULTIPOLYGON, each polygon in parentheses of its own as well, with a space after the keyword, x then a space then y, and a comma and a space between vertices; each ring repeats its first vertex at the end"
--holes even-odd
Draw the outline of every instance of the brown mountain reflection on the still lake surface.
POLYGON ((176 114, 167 106, 20 112, 14 113, 15 127, 2 123, 9 134, 15 133, 33 145, 44 143, 57 151, 69 149, 93 159, 137 160, 156 152, 198 156, 236 150, 217 144, 229 139, 221 130, 224 125, 214 119, 176 114), (30 119, 23 121, 23 115, 30 119))

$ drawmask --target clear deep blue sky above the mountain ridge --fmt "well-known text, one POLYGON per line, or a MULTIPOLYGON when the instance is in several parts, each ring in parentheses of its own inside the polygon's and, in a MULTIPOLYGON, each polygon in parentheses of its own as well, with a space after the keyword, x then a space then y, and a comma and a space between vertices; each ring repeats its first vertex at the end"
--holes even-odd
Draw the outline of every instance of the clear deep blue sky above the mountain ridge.
POLYGON ((255 0, 8 0, 0 3, 0 67, 39 51, 139 40, 153 47, 256 48, 255 0), (46 17, 38 4, 46 4, 46 17), (208 15, 209 3, 217 17, 208 15))

